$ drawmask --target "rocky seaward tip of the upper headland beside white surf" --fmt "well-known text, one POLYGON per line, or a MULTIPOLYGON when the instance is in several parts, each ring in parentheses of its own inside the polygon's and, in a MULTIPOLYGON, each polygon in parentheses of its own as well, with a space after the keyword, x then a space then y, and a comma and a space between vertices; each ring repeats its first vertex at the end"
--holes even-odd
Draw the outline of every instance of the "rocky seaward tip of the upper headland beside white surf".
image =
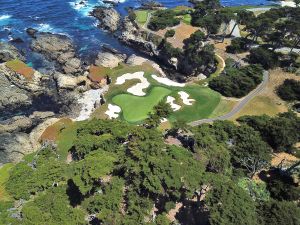
POLYGON ((99 20, 99 28, 110 32, 118 30, 121 16, 114 8, 96 7, 91 15, 99 20))

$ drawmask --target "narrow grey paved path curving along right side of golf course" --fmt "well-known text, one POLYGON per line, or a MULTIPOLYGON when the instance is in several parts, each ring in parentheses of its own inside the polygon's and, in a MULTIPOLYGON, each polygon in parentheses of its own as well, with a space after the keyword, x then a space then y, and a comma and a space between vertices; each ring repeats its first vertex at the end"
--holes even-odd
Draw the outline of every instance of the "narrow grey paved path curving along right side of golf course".
POLYGON ((251 91, 248 95, 246 95, 239 103, 227 114, 218 116, 215 118, 210 118, 210 119, 202 119, 202 120, 196 120, 193 122, 190 122, 188 125, 190 126, 198 126, 203 123, 211 123, 216 120, 227 120, 233 117, 235 114, 237 114, 241 109, 256 95, 258 95, 268 84, 269 81, 269 72, 264 71, 263 74, 263 81, 253 90, 251 91))

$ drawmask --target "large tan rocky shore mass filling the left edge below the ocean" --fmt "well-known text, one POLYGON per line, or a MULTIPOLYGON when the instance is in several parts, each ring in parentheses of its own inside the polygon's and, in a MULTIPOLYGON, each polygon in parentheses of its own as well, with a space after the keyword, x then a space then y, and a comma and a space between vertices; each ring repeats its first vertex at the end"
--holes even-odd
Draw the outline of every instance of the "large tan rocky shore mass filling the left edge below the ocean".
POLYGON ((55 62, 56 70, 47 75, 34 71, 26 79, 7 66, 12 60, 23 63, 25 57, 14 46, 0 44, 0 164, 19 161, 39 148, 39 136, 59 118, 76 118, 81 93, 91 89, 88 68, 68 37, 31 34, 31 49, 55 62))

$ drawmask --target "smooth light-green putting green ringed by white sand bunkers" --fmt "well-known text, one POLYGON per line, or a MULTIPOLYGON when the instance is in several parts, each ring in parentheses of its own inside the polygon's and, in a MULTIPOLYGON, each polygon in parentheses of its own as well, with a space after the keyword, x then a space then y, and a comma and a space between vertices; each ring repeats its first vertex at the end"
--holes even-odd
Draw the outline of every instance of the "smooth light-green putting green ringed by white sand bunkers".
POLYGON ((146 96, 120 94, 113 97, 112 102, 121 107, 123 118, 126 121, 135 123, 146 119, 153 107, 171 92, 164 87, 153 87, 146 96))

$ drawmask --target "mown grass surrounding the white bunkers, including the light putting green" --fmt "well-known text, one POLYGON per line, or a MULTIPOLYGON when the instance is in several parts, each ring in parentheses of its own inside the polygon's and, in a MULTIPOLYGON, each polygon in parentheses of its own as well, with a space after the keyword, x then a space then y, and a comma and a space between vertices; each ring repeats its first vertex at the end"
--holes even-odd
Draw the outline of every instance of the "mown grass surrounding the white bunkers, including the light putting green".
MULTIPOLYGON (((221 101, 221 95, 210 88, 197 84, 187 85, 183 88, 170 87, 154 80, 151 77, 152 74, 159 73, 147 63, 142 66, 133 67, 121 64, 118 68, 111 70, 109 76, 112 78, 112 84, 110 85, 108 93, 105 94, 107 103, 98 108, 93 113, 93 117, 102 119, 107 118, 105 115, 107 105, 112 103, 121 107, 121 119, 130 123, 138 123, 147 118, 147 114, 152 111, 153 106, 159 101, 163 100, 166 96, 173 96, 176 99, 175 103, 181 105, 182 108, 171 114, 169 118, 170 122, 174 122, 178 119, 185 122, 191 122, 210 117, 221 101), (126 90, 140 82, 139 80, 128 80, 123 85, 115 85, 117 77, 125 73, 134 73, 138 71, 144 71, 144 76, 151 84, 147 90, 144 90, 148 95, 139 97, 127 93, 126 90), (187 92, 190 95, 190 98, 195 99, 196 102, 192 106, 184 105, 178 95, 179 91, 187 92)), ((226 104, 223 104, 223 106, 224 105, 226 104)), ((225 109, 230 111, 231 106, 228 106, 225 109)))

